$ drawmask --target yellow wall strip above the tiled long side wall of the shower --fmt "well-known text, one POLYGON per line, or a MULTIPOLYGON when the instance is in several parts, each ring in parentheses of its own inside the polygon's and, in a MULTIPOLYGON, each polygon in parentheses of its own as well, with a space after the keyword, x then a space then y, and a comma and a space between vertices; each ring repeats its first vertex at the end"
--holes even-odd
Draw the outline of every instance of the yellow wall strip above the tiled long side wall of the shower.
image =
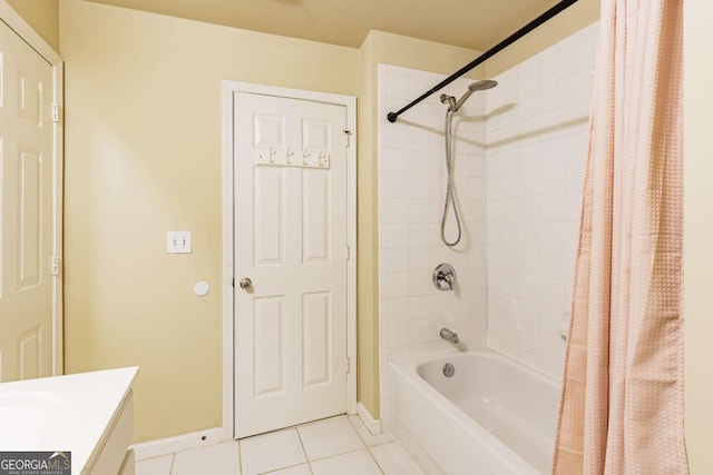
MULTIPOLYGON (((579 0, 557 17, 510 44, 487 62, 488 78, 492 78, 531 56, 576 33, 599 19, 600 0, 579 0)), ((502 39, 514 31, 502 32, 502 39)))

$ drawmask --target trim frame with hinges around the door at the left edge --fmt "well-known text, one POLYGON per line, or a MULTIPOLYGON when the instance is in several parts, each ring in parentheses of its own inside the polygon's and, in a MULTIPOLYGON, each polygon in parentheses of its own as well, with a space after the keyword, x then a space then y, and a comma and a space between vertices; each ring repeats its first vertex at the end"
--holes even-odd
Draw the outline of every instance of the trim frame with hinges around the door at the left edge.
MULTIPOLYGON (((58 274, 52 276, 52 375, 59 376, 65 373, 62 299, 65 66, 57 51, 6 0, 0 0, 0 21, 10 27, 52 67, 52 102, 59 106, 58 120, 52 122, 52 256, 59 259, 58 274)), ((47 263, 47 265, 52 264, 47 263)))

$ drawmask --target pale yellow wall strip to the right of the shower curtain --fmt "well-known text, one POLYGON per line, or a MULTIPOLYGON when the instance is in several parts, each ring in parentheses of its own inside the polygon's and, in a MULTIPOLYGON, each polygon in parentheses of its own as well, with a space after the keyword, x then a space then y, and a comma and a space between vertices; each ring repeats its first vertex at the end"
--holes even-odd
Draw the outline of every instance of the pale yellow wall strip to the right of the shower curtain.
POLYGON ((713 473, 713 3, 684 2, 686 445, 692 474, 713 473))

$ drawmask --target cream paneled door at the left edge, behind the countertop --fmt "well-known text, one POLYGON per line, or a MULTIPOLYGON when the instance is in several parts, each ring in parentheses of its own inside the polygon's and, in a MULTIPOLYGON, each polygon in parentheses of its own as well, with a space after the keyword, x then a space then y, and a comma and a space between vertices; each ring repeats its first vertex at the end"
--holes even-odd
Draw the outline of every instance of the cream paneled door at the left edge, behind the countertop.
POLYGON ((53 372, 52 81, 0 21, 0 382, 53 372))

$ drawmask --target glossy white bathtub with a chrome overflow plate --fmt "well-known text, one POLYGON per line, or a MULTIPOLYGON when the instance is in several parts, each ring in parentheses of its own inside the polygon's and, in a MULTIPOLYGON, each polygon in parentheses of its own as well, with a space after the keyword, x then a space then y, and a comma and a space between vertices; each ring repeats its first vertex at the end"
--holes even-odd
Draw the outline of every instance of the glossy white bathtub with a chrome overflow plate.
POLYGON ((551 472, 555 379, 479 349, 392 362, 390 389, 389 431, 426 475, 551 472))

